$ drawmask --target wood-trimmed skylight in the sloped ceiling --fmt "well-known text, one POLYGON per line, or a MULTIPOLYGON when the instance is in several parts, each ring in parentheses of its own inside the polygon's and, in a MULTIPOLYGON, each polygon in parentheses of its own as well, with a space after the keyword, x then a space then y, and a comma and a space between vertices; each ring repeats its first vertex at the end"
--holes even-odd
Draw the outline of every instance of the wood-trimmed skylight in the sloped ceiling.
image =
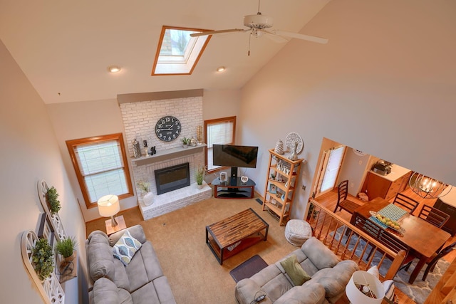
POLYGON ((208 30, 163 26, 152 75, 190 75, 211 38, 190 34, 202 31, 208 30))

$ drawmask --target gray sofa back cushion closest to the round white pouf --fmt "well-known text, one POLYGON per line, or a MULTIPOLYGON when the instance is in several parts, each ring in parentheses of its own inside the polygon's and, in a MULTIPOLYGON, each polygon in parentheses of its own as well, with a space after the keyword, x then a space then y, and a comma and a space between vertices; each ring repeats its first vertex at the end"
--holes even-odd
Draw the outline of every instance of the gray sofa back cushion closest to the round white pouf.
POLYGON ((334 267, 339 261, 336 254, 314 236, 301 246, 301 250, 318 269, 334 267))

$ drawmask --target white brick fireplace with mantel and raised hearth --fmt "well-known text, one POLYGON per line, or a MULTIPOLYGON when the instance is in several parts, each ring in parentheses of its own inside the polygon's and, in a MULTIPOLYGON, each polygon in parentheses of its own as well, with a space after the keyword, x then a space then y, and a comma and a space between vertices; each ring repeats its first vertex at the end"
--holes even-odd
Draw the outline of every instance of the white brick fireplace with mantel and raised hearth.
POLYGON ((182 148, 182 137, 195 137, 199 125, 203 125, 202 118, 202 90, 190 90, 191 97, 186 97, 189 91, 171 92, 172 97, 163 98, 163 93, 141 93, 118 95, 120 112, 125 126, 125 136, 130 165, 133 171, 133 183, 145 181, 150 183, 150 190, 154 196, 154 202, 145 206, 142 202, 141 192, 136 188, 138 205, 142 217, 147 220, 160 216, 170 211, 180 209, 183 206, 194 204, 197 201, 208 199, 212 196, 212 189, 204 184, 202 189, 197 189, 195 170, 204 165, 204 144, 196 147, 182 148), (196 93, 196 94, 195 94, 196 93), (132 98, 133 96, 133 98, 132 98), (163 142, 155 135, 155 124, 161 117, 173 115, 180 120, 182 132, 177 140, 163 142), (133 158, 133 140, 140 142, 142 157, 133 158), (157 154, 146 157, 142 141, 147 140, 147 146, 155 146, 157 154), (190 186, 173 190, 171 192, 157 194, 155 171, 166 167, 180 164, 189 164, 190 186))

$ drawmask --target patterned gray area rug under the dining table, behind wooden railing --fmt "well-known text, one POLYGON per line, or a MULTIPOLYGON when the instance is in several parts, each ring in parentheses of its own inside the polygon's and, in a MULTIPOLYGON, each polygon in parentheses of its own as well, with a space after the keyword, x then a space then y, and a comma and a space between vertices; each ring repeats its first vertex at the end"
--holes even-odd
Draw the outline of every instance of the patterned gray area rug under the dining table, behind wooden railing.
MULTIPOLYGON (((341 233, 343 232, 344 226, 339 227, 336 231, 336 236, 335 239, 338 240, 341 237, 341 233)), ((331 233, 332 236, 333 233, 331 233)), ((347 236, 343 236, 342 241, 345 243, 347 236)), ((348 248, 353 248, 355 246, 357 238, 352 238, 350 243, 348 244, 348 248)), ((363 242, 362 240, 360 243, 363 242)), ((363 248, 363 246, 358 246, 358 248, 363 248)), ((361 254, 361 248, 356 249, 356 255, 359 256, 361 254)), ((368 251, 366 251, 368 252, 368 251)), ((365 258, 364 258, 365 259, 365 258)), ((374 256, 373 258, 373 265, 378 264, 378 261, 380 260, 380 255, 379 256, 374 256)), ((366 261, 366 259, 365 259, 366 261)), ((450 263, 440 259, 440 261, 437 262, 437 265, 435 266, 434 270, 430 272, 427 275, 426 281, 422 281, 423 278, 423 273, 426 270, 427 264, 421 269, 420 273, 418 273, 418 276, 413 284, 408 283, 408 279, 410 278, 410 275, 413 272, 413 269, 415 269, 415 265, 418 263, 418 260, 414 260, 410 268, 408 268, 408 271, 405 271, 404 269, 398 271, 396 276, 393 278, 394 280, 394 285, 395 288, 398 288, 400 291, 408 295, 408 297, 412 300, 415 301, 415 303, 418 304, 423 304, 427 298, 427 296, 430 294, 432 289, 437 285, 437 282, 440 281, 440 278, 442 278, 443 273, 447 271, 447 268, 450 266, 450 263)), ((379 273, 385 276, 386 271, 388 270, 389 266, 391 265, 391 261, 384 261, 382 266, 379 269, 379 273)))

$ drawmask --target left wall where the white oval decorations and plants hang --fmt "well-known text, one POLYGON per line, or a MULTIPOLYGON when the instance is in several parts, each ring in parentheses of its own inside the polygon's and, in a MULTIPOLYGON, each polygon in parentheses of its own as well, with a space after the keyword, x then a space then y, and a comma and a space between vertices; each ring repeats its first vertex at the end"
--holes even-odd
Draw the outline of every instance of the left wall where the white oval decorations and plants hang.
POLYGON ((37 190, 40 179, 56 187, 63 226, 68 235, 78 239, 78 278, 63 286, 66 303, 83 303, 86 261, 81 257, 86 256, 86 226, 56 136, 43 100, 1 41, 0 61, 1 303, 43 303, 22 262, 20 246, 22 233, 36 231, 43 212, 37 190))

